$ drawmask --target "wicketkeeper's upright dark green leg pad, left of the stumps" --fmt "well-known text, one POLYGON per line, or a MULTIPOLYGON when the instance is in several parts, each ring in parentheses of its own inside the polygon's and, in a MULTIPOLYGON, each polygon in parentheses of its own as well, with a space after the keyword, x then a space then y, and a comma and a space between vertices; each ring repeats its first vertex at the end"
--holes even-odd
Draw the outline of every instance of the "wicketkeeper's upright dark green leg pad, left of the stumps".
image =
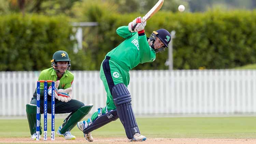
MULTIPOLYGON (((26 104, 26 113, 28 118, 30 134, 33 135, 37 130, 37 125, 36 125, 37 124, 37 105, 26 104)), ((41 128, 40 128, 40 134, 42 134, 41 128)))

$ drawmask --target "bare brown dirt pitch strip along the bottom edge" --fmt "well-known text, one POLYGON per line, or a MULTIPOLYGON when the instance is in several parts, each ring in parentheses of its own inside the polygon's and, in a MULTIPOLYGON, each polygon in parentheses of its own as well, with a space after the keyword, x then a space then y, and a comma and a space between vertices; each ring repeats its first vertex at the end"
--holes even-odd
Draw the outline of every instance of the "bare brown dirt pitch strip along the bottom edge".
POLYGON ((29 138, 0 138, 0 143, 90 143, 90 144, 256 144, 256 139, 195 139, 195 138, 180 138, 180 139, 166 139, 166 138, 148 138, 144 142, 129 142, 127 139, 117 138, 100 138, 94 139, 94 142, 88 142, 84 138, 77 138, 76 140, 63 140, 61 137, 56 137, 55 141, 48 138, 47 141, 34 141, 29 138))

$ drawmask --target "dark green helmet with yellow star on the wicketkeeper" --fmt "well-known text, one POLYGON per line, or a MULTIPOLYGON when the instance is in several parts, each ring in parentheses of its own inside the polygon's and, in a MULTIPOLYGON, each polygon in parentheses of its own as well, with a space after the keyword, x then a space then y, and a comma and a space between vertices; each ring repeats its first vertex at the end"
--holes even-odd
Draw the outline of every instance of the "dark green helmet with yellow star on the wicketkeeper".
MULTIPOLYGON (((69 55, 68 55, 68 53, 67 52, 65 52, 65 51, 57 51, 57 52, 55 52, 54 54, 53 54, 53 59, 51 60, 51 63, 52 63, 52 67, 53 67, 53 69, 56 71, 56 72, 58 72, 58 73, 60 73, 59 72, 59 69, 57 69, 57 67, 56 66, 58 66, 57 65, 57 62, 58 61, 68 61, 68 68, 67 68, 67 70, 70 70, 70 66, 71 66, 71 64, 70 64, 70 58, 69 58, 69 55)), ((66 73, 67 71, 65 71, 65 73, 66 73)), ((64 74, 64 73, 61 73, 61 74, 64 74)))

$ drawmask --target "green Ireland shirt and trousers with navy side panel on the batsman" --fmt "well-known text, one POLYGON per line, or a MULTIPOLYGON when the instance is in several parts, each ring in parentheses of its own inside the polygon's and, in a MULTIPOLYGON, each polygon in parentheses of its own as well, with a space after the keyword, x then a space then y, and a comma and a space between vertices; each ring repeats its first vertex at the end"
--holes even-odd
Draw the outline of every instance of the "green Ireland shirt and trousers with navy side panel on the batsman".
MULTIPOLYGON (((120 83, 128 86, 130 82, 129 70, 139 63, 153 62, 156 59, 155 51, 148 45, 145 33, 131 33, 128 26, 119 27, 116 32, 126 40, 106 54, 110 59, 106 58, 101 64, 100 78, 107 93, 106 106, 101 109, 102 115, 110 110, 116 110, 111 93, 113 86, 120 83)), ((98 116, 97 111, 90 117, 90 121, 94 121, 98 116)), ((88 120, 87 123, 89 123, 88 120)))

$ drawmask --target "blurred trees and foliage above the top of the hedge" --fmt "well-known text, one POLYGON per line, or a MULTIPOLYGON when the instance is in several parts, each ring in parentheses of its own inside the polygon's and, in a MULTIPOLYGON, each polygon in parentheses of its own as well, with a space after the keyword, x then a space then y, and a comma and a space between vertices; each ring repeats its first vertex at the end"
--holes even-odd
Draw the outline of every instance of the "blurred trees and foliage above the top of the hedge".
MULTIPOLYGON (((158 0, 97 0, 99 3, 108 3, 117 5, 114 8, 119 13, 140 12, 145 13, 158 0)), ((81 5, 82 8, 86 3, 91 3, 91 0, 0 0, 0 14, 9 14, 13 12, 24 11, 26 13, 41 13, 45 15, 65 14, 72 16, 71 11, 74 5, 81 5), (83 6, 82 6, 83 5, 83 6)), ((253 10, 256 8, 255 0, 165 0, 165 4, 161 10, 176 12, 177 7, 183 4, 186 11, 204 12, 213 8, 222 8, 224 10, 247 9, 253 10)), ((89 4, 88 4, 89 5, 89 4)), ((76 12, 75 12, 76 13, 76 12)))

